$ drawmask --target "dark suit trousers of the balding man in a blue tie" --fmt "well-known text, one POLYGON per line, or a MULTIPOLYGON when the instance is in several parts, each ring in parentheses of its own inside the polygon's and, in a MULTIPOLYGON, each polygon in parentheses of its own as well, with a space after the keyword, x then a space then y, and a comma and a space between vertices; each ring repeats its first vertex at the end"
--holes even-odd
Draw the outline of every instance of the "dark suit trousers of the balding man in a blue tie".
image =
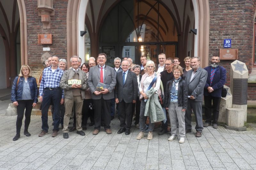
POLYGON ((124 100, 122 100, 121 102, 119 101, 118 107, 120 113, 120 127, 122 129, 131 129, 132 103, 125 103, 124 100))

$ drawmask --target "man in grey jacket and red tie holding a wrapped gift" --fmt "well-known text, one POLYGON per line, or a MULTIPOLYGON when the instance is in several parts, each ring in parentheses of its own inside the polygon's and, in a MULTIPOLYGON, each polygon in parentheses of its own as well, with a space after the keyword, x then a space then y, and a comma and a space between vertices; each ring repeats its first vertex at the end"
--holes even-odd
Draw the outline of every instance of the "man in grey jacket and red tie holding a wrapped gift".
POLYGON ((110 130, 110 103, 114 96, 114 87, 116 85, 116 71, 112 67, 105 65, 107 55, 100 53, 98 55, 99 65, 91 67, 87 84, 92 92, 92 100, 94 103, 94 130, 93 135, 97 135, 100 131, 101 111, 104 111, 104 129, 107 134, 111 134, 110 130), (95 91, 97 84, 101 82, 109 85, 108 88, 103 88, 100 92, 95 91))

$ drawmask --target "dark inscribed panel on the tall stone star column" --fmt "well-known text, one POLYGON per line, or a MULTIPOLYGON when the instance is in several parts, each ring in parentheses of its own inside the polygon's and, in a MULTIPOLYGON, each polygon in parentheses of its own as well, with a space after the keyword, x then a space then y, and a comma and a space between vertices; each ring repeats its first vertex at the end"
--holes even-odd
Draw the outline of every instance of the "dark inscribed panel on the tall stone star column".
POLYGON ((233 78, 233 102, 235 105, 247 105, 247 78, 233 78))

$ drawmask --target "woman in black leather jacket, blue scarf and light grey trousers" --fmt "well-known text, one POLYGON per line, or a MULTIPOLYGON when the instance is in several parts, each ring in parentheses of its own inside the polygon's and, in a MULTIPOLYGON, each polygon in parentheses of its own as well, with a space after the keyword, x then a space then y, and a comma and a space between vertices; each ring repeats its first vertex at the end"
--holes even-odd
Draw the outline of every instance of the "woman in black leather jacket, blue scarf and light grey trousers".
POLYGON ((185 111, 188 103, 188 85, 182 79, 183 69, 181 66, 176 65, 173 67, 174 78, 166 83, 164 92, 164 107, 168 110, 171 122, 171 137, 168 138, 172 141, 177 138, 177 117, 179 121, 179 143, 185 141, 185 111))

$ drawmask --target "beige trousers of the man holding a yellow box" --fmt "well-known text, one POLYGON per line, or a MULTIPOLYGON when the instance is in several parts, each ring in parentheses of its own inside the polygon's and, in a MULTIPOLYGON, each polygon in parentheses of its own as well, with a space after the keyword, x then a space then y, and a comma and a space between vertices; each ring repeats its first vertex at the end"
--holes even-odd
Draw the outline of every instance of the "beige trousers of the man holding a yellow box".
POLYGON ((72 113, 73 104, 76 105, 76 130, 81 131, 81 124, 82 124, 82 108, 84 101, 82 100, 81 96, 73 96, 73 99, 65 99, 65 115, 63 121, 63 133, 68 133, 68 124, 70 120, 70 115, 72 113))

